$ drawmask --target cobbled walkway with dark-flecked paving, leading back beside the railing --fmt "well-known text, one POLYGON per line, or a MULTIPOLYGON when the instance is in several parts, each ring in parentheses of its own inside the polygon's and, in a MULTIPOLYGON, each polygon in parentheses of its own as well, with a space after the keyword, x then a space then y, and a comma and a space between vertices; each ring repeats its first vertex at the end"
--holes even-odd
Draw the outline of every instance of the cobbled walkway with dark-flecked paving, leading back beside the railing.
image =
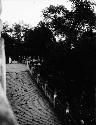
POLYGON ((22 64, 8 64, 7 96, 20 125, 62 125, 22 64))

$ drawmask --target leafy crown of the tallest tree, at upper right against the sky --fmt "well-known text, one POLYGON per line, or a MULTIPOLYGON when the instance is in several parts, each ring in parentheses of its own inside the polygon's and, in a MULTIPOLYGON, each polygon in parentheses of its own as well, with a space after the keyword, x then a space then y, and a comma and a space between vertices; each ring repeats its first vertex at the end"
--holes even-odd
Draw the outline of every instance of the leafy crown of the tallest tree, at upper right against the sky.
POLYGON ((52 29, 55 35, 61 34, 65 37, 68 50, 77 46, 77 40, 83 32, 95 27, 96 17, 89 2, 73 1, 75 6, 71 11, 64 6, 47 7, 43 11, 45 24, 52 29))

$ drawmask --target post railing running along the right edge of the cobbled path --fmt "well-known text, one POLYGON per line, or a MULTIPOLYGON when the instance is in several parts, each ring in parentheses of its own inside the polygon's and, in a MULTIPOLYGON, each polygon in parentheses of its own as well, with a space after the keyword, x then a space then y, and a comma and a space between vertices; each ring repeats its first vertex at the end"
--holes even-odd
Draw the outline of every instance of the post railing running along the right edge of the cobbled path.
MULTIPOLYGON (((30 66, 30 64, 27 64, 27 67, 29 68, 29 71, 31 75, 33 76, 34 80, 38 84, 38 86, 43 90, 45 96, 49 99, 50 103, 53 105, 54 110, 57 112, 57 114, 60 114, 61 119, 65 124, 69 124, 68 122, 71 122, 74 125, 78 125, 77 121, 74 120, 70 113, 70 106, 68 102, 65 102, 65 104, 62 104, 58 97, 58 91, 52 90, 49 87, 48 81, 44 81, 40 77, 40 73, 37 73, 34 66, 30 66), (68 120, 66 121, 68 117, 68 120)), ((38 65, 37 65, 38 67, 38 65)))

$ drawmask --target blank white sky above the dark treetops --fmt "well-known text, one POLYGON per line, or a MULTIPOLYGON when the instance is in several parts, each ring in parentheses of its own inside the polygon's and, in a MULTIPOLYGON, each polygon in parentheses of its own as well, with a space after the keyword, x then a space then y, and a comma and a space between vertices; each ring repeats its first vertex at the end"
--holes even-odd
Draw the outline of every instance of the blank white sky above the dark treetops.
POLYGON ((69 0, 2 0, 1 19, 9 25, 23 22, 36 26, 42 20, 42 9, 57 4, 71 9, 69 0))

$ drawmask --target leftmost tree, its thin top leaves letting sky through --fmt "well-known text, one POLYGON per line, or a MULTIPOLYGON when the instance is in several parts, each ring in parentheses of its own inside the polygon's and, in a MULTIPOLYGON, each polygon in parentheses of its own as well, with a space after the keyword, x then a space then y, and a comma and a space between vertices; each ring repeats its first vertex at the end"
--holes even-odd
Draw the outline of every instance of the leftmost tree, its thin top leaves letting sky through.
POLYGON ((8 24, 3 24, 2 37, 5 41, 6 58, 13 56, 15 59, 19 55, 24 55, 23 37, 28 26, 21 26, 14 24, 14 27, 10 27, 8 24), (22 50, 22 51, 21 51, 22 50))

